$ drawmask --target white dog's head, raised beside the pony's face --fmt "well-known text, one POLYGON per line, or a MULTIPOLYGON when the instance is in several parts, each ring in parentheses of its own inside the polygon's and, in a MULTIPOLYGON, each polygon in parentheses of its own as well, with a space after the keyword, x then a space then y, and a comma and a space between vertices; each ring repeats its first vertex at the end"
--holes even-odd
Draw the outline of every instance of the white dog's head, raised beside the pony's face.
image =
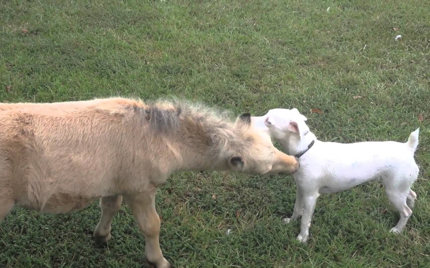
POLYGON ((264 130, 274 139, 280 141, 290 135, 303 137, 309 132, 305 121, 307 118, 294 109, 272 109, 263 116, 251 117, 251 121, 258 129, 264 130))

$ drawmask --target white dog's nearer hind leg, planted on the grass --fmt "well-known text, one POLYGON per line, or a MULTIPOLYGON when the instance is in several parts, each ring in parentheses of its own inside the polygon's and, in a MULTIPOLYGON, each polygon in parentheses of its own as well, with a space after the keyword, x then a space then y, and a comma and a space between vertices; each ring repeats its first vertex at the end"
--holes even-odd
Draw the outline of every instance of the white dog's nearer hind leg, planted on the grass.
POLYGON ((401 233, 406 223, 408 222, 409 217, 411 217, 412 215, 412 210, 406 203, 410 192, 399 192, 396 189, 393 190, 389 188, 387 188, 385 192, 387 193, 387 198, 388 200, 390 200, 391 205, 393 205, 393 207, 396 208, 396 210, 399 211, 400 214, 399 222, 396 226, 391 228, 390 232, 401 233))

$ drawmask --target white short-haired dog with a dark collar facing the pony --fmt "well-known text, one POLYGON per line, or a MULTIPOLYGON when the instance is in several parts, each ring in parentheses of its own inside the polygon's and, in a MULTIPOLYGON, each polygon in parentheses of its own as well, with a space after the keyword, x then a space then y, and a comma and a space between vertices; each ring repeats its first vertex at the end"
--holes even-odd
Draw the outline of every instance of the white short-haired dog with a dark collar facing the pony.
POLYGON ((414 152, 419 128, 408 142, 321 142, 309 131, 307 120, 297 109, 273 109, 261 117, 251 117, 257 128, 268 131, 287 154, 299 157, 294 178, 297 198, 291 218, 302 216, 297 239, 306 242, 316 199, 321 193, 335 193, 366 181, 380 181, 400 220, 391 232, 400 233, 411 217, 416 194, 411 186, 418 176, 414 152))

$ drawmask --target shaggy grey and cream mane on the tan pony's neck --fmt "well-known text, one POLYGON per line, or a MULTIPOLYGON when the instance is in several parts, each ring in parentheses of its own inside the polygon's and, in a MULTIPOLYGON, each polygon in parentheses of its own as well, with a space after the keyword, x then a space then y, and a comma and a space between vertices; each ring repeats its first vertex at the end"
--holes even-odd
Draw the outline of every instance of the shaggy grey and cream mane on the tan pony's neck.
POLYGON ((244 139, 250 124, 236 124, 230 111, 175 98, 145 103, 139 99, 137 103, 155 133, 176 134, 186 129, 197 141, 209 143, 214 155, 222 157, 251 146, 251 141, 244 139))

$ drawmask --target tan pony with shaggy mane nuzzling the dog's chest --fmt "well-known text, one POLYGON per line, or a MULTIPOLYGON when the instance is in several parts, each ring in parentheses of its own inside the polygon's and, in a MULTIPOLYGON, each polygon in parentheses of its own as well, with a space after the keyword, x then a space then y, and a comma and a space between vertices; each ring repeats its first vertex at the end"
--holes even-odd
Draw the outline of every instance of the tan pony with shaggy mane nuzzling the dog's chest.
POLYGON ((180 101, 96 99, 0 104, 0 222, 15 206, 67 213, 100 199, 95 238, 111 238, 122 199, 145 236, 145 257, 171 267, 159 244, 157 187, 173 172, 292 173, 294 157, 251 126, 180 101))

